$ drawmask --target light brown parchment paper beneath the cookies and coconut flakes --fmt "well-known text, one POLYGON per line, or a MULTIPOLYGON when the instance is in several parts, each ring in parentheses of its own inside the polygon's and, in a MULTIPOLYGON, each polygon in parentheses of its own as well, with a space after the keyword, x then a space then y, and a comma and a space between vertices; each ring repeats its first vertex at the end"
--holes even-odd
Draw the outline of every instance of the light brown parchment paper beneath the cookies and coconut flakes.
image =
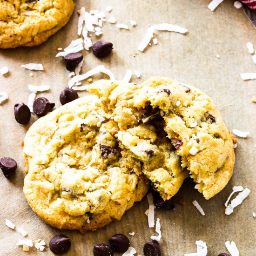
MULTIPOLYGON (((78 231, 58 230, 50 227, 34 214, 23 196, 22 142, 29 126, 37 119, 32 115, 30 123, 20 125, 14 120, 13 106, 27 102, 29 90, 27 84, 49 85, 48 92, 38 93, 60 107, 59 95, 67 87, 68 71, 62 57, 55 58, 58 47, 67 47, 71 40, 77 39, 76 13, 81 7, 86 11, 99 10, 106 13, 107 19, 115 16, 117 23, 129 25, 129 30, 119 29, 114 24, 104 23, 104 34, 97 40, 108 40, 113 43, 112 54, 97 59, 92 51, 83 51, 85 56, 81 74, 97 65, 104 64, 121 80, 127 69, 140 71, 141 78, 133 75, 131 81, 140 83, 151 75, 168 76, 177 81, 191 84, 202 89, 215 101, 227 127, 249 131, 248 138, 240 138, 236 152, 234 174, 225 189, 210 200, 205 200, 196 189, 191 179, 187 179, 178 195, 185 200, 185 205, 177 204, 175 210, 155 209, 160 218, 162 240, 160 242, 163 256, 182 256, 196 252, 195 241, 202 240, 208 246, 208 255, 217 256, 221 252, 228 253, 224 243, 234 241, 241 256, 254 256, 256 252, 256 212, 255 188, 256 171, 256 81, 243 81, 240 73, 256 72, 248 53, 246 43, 252 42, 256 47, 256 30, 251 25, 242 9, 233 6, 233 0, 225 0, 215 11, 207 8, 209 0, 77 0, 75 12, 67 26, 50 37, 38 47, 0 50, 0 67, 9 67, 10 72, 0 75, 0 91, 9 95, 9 99, 0 104, 0 157, 10 156, 18 163, 16 174, 7 180, 0 173, 0 255, 23 256, 54 255, 48 248, 52 236, 65 234, 71 238, 72 245, 67 255, 92 256, 93 246, 108 243, 108 239, 122 233, 128 236, 137 253, 143 254, 143 245, 151 235, 157 235, 154 228, 148 228, 148 218, 144 214, 148 209, 147 199, 135 203, 121 221, 114 221, 103 229, 87 232, 82 235, 78 231), (106 11, 112 6, 111 13, 106 11), (129 20, 137 22, 136 27, 129 20), (155 37, 157 45, 148 46, 143 53, 136 50, 144 37, 148 24, 171 23, 186 27, 186 35, 158 31, 155 37), (137 53, 137 54, 135 54, 137 53), (216 54, 220 58, 216 58, 216 54), (27 63, 42 63, 44 71, 29 71, 19 66, 27 63), (30 76, 30 72, 34 76, 30 76), (225 215, 225 206, 233 186, 249 188, 251 193, 242 205, 235 208, 230 216, 225 215), (196 200, 202 206, 202 216, 192 202, 196 200), (9 219, 16 229, 9 229, 5 220, 9 219), (17 231, 22 227, 28 233, 27 239, 44 239, 47 248, 37 252, 33 247, 30 252, 23 252, 16 243, 23 238, 17 231), (130 236, 128 232, 135 232, 130 236)), ((93 81, 108 78, 103 74, 94 75, 93 81)), ((83 81, 83 84, 88 82, 83 81)), ((79 96, 86 92, 79 92, 79 96)), ((121 255, 116 253, 115 255, 121 255)))

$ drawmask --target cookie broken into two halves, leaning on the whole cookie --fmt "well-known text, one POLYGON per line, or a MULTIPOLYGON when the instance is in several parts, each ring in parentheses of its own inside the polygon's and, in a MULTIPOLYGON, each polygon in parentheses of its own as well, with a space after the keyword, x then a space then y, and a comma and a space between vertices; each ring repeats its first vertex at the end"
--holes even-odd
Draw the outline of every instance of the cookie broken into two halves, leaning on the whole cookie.
POLYGON ((88 90, 101 98, 105 111, 118 122, 115 136, 144 163, 142 171, 163 199, 171 196, 165 189, 178 184, 177 190, 186 177, 181 167, 189 170, 206 199, 228 183, 235 163, 233 139, 211 98, 199 89, 153 77, 141 85, 100 81, 88 90), (148 131, 142 132, 145 126, 148 131), (166 182, 170 176, 176 183, 166 182))

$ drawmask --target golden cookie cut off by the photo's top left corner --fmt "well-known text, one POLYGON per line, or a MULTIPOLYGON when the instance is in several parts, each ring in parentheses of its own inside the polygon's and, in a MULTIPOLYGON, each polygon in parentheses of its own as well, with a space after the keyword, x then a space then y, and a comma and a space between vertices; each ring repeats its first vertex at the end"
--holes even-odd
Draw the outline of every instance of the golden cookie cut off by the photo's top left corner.
POLYGON ((0 0, 0 48, 36 46, 65 26, 73 0, 0 0))

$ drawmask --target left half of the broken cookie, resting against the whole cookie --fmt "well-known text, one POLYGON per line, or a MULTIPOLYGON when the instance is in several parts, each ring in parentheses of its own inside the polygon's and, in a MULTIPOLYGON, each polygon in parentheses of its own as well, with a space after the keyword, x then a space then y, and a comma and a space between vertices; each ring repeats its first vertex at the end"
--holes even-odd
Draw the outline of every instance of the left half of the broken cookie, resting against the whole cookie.
POLYGON ((88 91, 100 97, 101 107, 116 122, 120 147, 141 162, 143 174, 167 200, 178 192, 188 171, 181 167, 181 157, 164 132, 160 111, 150 105, 134 107, 134 95, 140 88, 133 83, 101 80, 91 84, 88 91))

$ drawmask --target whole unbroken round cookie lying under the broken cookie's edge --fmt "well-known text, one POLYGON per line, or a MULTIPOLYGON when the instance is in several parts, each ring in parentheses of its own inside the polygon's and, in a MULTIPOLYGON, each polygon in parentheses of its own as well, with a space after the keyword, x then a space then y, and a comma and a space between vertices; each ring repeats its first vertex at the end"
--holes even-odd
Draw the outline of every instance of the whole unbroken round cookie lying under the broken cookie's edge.
POLYGON ((65 104, 35 121, 24 139, 24 194, 58 229, 101 228, 148 191, 141 163, 115 139, 115 121, 96 96, 65 104))

